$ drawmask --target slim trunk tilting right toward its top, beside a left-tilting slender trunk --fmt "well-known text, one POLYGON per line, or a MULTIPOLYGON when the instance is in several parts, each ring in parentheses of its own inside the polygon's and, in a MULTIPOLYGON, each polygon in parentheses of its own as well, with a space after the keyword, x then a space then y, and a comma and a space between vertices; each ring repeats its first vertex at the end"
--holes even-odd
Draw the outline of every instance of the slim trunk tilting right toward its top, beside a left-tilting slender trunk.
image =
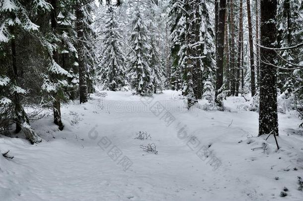
POLYGON ((239 38, 238 38, 238 61, 235 79, 235 96, 239 95, 239 82, 240 82, 240 67, 241 67, 241 49, 243 45, 243 0, 240 0, 240 18, 239 18, 239 38))

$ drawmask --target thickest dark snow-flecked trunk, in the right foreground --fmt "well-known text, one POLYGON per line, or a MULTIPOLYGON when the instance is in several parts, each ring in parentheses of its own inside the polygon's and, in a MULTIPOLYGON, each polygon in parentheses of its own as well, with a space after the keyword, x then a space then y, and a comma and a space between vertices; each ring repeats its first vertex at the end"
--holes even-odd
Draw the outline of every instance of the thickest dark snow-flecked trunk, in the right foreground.
MULTIPOLYGON (((261 45, 276 48, 277 44, 277 0, 261 0, 261 45)), ((275 64, 277 55, 273 50, 261 48, 262 60, 275 64)), ((278 135, 277 113, 277 69, 261 62, 259 136, 278 135)))

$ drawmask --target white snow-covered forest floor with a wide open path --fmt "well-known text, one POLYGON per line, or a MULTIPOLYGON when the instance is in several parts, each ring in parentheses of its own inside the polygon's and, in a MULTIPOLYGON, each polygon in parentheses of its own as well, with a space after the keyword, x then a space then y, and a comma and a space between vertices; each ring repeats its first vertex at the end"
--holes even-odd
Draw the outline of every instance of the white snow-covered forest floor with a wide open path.
POLYGON ((43 142, 1 136, 0 201, 302 201, 302 123, 279 114, 273 136, 258 134, 258 114, 230 97, 230 112, 187 111, 178 92, 153 98, 131 92, 92 95, 32 123, 43 142), (151 139, 134 139, 139 131, 151 139), (265 151, 263 142, 267 143, 265 151), (140 145, 154 143, 158 154, 140 145), (288 189, 286 197, 281 191, 288 189))

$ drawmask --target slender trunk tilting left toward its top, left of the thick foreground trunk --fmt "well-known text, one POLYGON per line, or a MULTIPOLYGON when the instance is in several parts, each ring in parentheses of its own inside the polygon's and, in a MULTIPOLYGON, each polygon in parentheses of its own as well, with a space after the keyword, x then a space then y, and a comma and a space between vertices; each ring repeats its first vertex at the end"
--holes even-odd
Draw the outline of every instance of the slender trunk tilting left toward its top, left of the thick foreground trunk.
POLYGON ((247 20, 248 20, 248 41, 249 41, 249 59, 250 59, 251 96, 254 96, 256 94, 256 85, 255 85, 255 66, 254 66, 254 55, 253 55, 250 0, 246 0, 246 5, 247 5, 247 20))

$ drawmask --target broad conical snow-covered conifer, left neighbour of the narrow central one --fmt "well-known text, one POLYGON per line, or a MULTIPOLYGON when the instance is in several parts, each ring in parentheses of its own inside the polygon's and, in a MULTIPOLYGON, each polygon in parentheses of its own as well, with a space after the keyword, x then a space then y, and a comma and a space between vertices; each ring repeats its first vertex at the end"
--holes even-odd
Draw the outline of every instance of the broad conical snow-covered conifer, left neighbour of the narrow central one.
POLYGON ((108 20, 105 24, 105 35, 101 64, 98 69, 98 79, 105 89, 111 91, 121 90, 126 85, 125 55, 122 51, 123 44, 120 34, 120 24, 117 20, 115 7, 107 8, 108 20))

